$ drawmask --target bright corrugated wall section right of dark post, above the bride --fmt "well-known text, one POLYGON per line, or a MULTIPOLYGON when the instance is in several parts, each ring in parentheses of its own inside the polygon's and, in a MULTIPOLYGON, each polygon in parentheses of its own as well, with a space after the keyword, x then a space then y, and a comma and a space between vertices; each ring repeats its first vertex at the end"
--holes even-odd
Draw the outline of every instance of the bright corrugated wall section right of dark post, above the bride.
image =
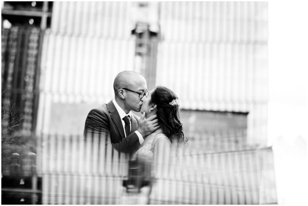
POLYGON ((156 85, 183 109, 249 112, 249 143, 266 144, 267 2, 161 2, 156 85))

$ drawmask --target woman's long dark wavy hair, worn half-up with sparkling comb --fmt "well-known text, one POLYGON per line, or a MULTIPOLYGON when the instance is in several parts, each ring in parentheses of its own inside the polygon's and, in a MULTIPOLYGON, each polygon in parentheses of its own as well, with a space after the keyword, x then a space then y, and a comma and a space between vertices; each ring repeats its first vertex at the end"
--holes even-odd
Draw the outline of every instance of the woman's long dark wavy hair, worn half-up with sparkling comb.
POLYGON ((177 144, 187 144, 187 138, 183 132, 183 124, 180 121, 179 105, 170 105, 174 99, 178 97, 167 87, 156 86, 151 95, 150 104, 156 104, 157 118, 160 121, 160 128, 171 142, 176 141, 177 144))

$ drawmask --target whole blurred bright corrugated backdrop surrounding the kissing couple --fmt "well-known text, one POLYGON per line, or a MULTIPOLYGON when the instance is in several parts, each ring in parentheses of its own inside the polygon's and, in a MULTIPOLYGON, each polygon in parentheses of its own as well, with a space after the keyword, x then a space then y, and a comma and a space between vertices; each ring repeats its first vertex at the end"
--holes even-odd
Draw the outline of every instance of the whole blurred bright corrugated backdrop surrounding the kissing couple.
POLYGON ((121 203, 125 168, 106 192, 95 183, 110 175, 94 164, 99 149, 88 145, 87 170, 78 158, 90 151, 88 112, 113 98, 123 70, 178 95, 185 158, 197 168, 170 184, 187 196, 150 204, 307 203, 302 5, 2 2, 1 11, 2 204, 121 203))

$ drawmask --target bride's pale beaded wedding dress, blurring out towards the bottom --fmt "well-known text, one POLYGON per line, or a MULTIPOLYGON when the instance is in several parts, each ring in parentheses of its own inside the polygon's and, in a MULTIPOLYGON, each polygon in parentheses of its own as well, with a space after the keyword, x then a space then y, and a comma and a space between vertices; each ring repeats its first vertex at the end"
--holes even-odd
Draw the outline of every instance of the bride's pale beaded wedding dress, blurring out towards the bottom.
POLYGON ((132 194, 137 195, 134 204, 150 204, 150 196, 153 196, 155 199, 157 194, 162 190, 161 188, 165 187, 164 184, 161 184, 160 179, 165 178, 162 172, 166 169, 161 165, 168 165, 170 163, 168 160, 170 160, 172 156, 172 144, 168 137, 162 133, 157 134, 152 140, 145 143, 132 155, 128 183, 130 183, 129 191, 133 191, 130 192, 129 197, 132 198, 132 194), (160 138, 166 138, 167 141, 157 142, 160 138), (157 147, 155 148, 155 153, 157 154, 154 154, 154 146, 157 147), (158 157, 160 160, 154 159, 154 156, 158 157), (157 172, 157 170, 160 172, 157 172))

